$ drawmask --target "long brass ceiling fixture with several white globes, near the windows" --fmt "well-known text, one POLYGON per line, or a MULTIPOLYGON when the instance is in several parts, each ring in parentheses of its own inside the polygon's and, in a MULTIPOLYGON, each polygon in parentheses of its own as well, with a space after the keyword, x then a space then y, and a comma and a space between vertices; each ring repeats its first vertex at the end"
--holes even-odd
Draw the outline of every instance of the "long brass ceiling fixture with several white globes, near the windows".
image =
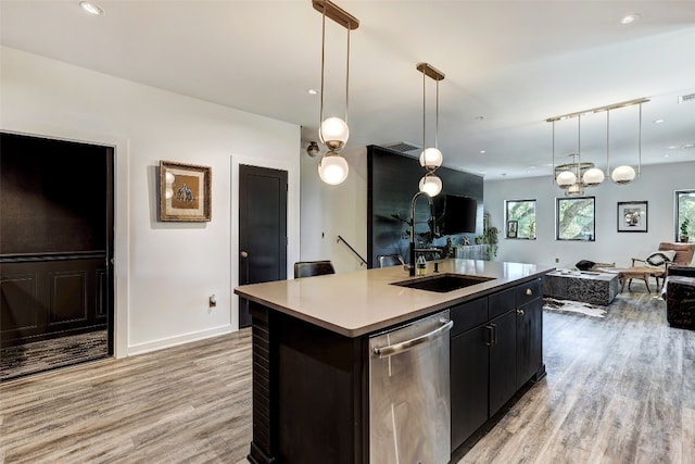
POLYGON ((642 174, 642 103, 648 102, 648 99, 641 98, 635 100, 623 101, 620 103, 598 106, 591 110, 579 111, 576 113, 563 114, 560 116, 548 117, 545 120, 553 124, 553 183, 565 190, 566 196, 584 195, 585 187, 596 187, 601 185, 606 176, 610 176, 614 183, 619 185, 630 184, 635 176, 642 174), (632 105, 640 106, 640 126, 637 142, 637 171, 630 165, 621 165, 610 172, 610 111, 632 105), (594 113, 606 113, 606 173, 597 167, 594 163, 582 162, 581 160, 581 127, 582 116, 594 113), (572 158, 570 163, 555 165, 555 123, 563 120, 577 117, 577 153, 570 153, 572 158))

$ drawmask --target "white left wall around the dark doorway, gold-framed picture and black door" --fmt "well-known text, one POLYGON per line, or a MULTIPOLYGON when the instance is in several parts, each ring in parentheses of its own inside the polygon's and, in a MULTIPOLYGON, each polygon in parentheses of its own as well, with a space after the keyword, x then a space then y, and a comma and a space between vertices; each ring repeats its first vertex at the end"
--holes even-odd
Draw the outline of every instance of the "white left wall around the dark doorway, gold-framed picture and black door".
POLYGON ((300 246, 299 126, 7 47, 0 60, 2 130, 116 149, 116 355, 238 328, 239 163, 289 173, 291 275, 300 246), (156 221, 160 160, 212 167, 212 222, 156 221), (212 293, 215 309, 207 308, 212 293))

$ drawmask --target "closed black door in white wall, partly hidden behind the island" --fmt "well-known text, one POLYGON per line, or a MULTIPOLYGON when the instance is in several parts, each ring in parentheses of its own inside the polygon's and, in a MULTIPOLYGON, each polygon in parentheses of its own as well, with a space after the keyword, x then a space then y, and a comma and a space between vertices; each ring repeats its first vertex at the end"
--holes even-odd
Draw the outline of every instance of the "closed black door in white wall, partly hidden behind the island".
MULTIPOLYGON (((287 171, 239 165, 239 285, 287 278, 287 171)), ((239 298, 239 327, 251 325, 239 298)))

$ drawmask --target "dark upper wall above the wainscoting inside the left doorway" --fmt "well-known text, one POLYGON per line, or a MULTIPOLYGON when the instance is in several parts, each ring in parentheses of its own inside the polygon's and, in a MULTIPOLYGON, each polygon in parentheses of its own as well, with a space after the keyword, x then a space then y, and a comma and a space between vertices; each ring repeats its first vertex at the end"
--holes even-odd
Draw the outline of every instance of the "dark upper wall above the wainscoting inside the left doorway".
POLYGON ((104 250, 104 147, 0 135, 0 254, 104 250))

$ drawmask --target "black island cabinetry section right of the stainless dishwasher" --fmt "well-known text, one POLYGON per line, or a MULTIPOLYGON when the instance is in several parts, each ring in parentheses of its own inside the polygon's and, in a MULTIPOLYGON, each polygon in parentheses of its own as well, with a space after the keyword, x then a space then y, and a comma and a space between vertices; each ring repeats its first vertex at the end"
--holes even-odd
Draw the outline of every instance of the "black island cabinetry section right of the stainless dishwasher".
POLYGON ((452 450, 497 413, 530 379, 541 378, 541 280, 452 308, 452 450))

